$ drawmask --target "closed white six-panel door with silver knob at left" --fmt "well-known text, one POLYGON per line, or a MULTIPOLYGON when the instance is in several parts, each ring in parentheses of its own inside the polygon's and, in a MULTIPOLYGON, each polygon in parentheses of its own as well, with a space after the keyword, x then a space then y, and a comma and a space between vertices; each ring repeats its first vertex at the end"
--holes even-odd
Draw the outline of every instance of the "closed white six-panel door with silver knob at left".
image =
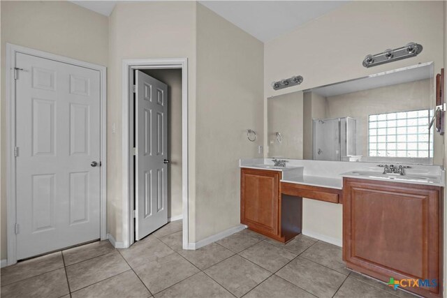
POLYGON ((16 67, 20 260, 100 238, 100 73, 22 53, 16 67))

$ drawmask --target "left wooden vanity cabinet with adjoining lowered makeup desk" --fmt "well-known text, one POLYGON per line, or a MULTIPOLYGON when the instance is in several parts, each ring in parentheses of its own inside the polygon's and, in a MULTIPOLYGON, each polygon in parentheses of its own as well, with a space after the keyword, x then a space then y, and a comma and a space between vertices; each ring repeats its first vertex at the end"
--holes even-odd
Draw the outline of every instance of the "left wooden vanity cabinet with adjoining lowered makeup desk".
POLYGON ((302 198, 343 201, 342 177, 303 176, 303 167, 241 165, 241 223, 286 243, 301 233, 302 198))

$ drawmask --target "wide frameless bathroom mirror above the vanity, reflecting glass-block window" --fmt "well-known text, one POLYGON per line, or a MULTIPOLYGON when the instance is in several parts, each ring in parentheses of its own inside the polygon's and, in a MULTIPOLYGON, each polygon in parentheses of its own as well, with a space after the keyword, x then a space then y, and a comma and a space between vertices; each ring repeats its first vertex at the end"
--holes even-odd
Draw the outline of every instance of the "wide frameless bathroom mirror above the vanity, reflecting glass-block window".
POLYGON ((432 62, 268 98, 268 157, 442 164, 432 62))

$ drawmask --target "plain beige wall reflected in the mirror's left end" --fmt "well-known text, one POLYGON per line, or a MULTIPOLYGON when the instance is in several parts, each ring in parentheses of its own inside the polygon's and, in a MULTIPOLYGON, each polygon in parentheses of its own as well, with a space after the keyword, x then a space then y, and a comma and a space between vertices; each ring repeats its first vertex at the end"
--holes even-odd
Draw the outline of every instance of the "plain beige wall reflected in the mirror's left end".
POLYGON ((268 99, 269 157, 302 159, 303 108, 302 91, 268 99))

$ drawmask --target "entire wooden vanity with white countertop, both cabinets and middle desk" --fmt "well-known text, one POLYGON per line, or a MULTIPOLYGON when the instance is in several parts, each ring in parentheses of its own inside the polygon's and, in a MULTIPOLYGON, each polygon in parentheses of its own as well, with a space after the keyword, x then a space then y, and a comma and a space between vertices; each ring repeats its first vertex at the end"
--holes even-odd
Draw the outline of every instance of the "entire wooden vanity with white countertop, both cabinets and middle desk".
POLYGON ((281 168, 241 161, 241 223, 286 243, 302 231, 302 198, 343 204, 347 268, 384 282, 437 281, 406 290, 442 297, 445 172, 424 165, 411 170, 406 177, 420 181, 383 177, 375 164, 295 161, 281 168), (314 175, 318 170, 333 177, 314 175))

